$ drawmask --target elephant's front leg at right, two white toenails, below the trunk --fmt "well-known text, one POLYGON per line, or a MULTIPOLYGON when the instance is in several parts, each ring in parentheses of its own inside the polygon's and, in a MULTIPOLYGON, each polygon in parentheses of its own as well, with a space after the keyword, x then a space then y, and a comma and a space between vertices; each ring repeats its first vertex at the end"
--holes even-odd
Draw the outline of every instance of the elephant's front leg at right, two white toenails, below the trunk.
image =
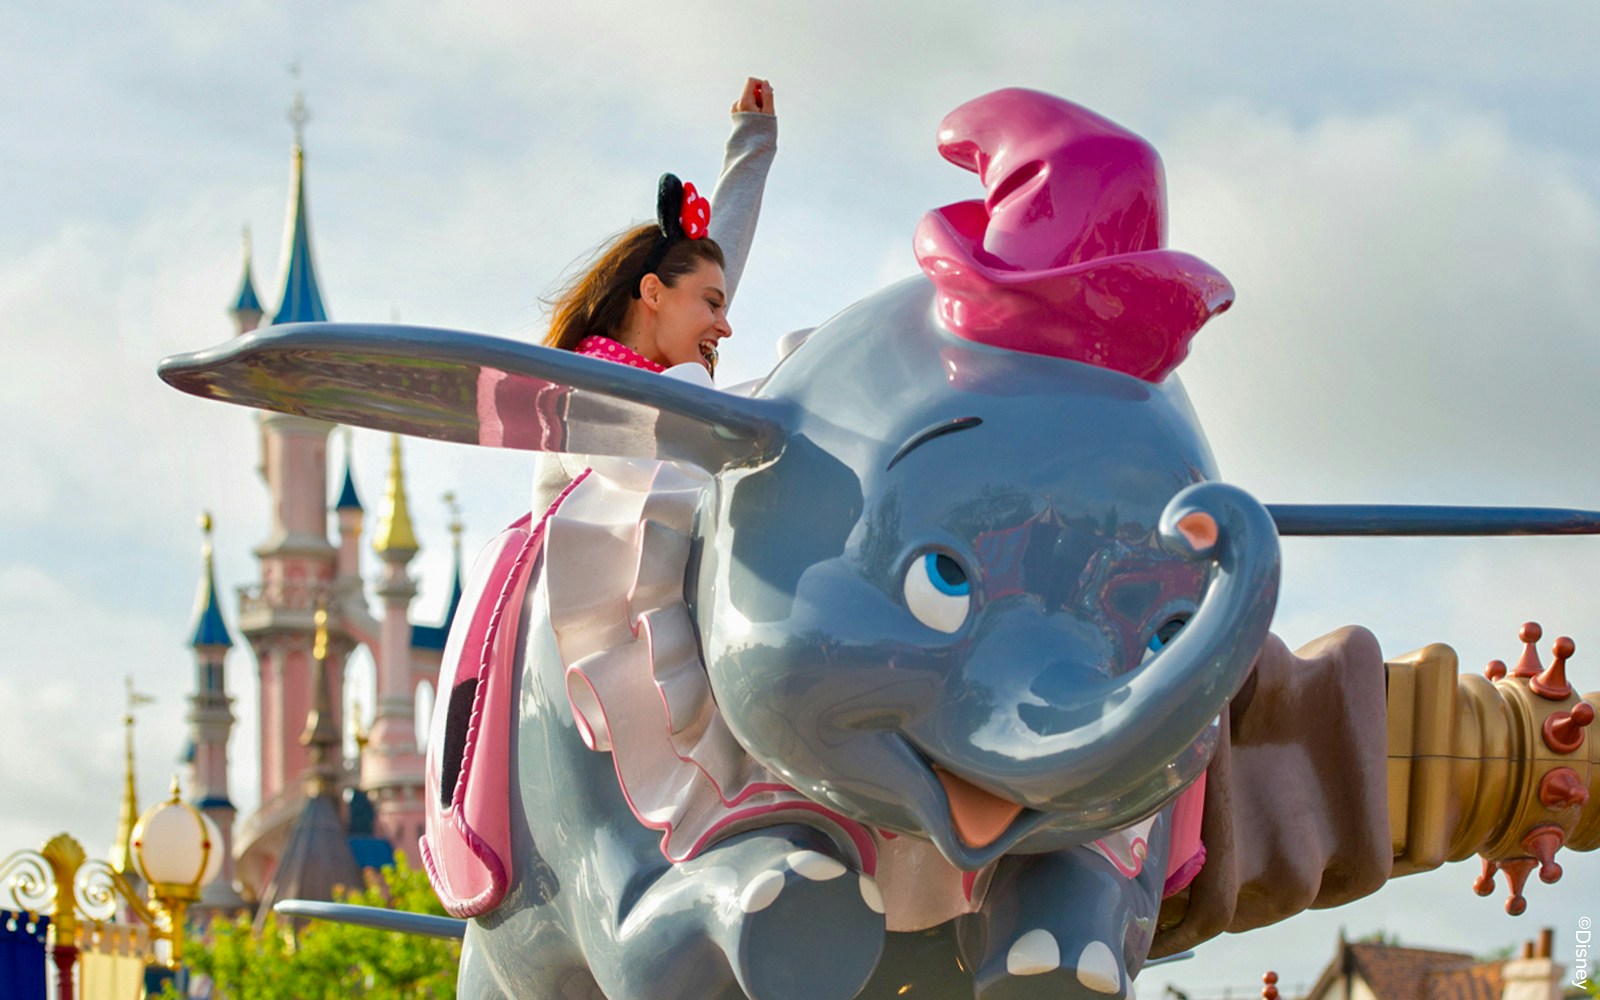
POLYGON ((982 1000, 1133 997, 1155 933, 1166 874, 1166 818, 1128 878, 1099 854, 1072 848, 1018 856, 995 875, 982 914, 962 923, 982 1000))

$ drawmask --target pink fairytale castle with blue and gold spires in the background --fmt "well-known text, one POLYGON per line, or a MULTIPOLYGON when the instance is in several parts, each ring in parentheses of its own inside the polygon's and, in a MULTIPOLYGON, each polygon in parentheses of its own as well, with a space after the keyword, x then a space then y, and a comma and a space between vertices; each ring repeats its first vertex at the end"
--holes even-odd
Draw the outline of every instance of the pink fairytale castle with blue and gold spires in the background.
MULTIPOLYGON (((238 334, 262 323, 328 318, 306 202, 307 117, 296 98, 278 306, 269 314, 256 294, 246 238, 243 278, 230 309, 238 334)), ((261 413, 254 419, 261 427, 259 470, 270 496, 272 523, 254 549, 261 579, 240 590, 237 635, 254 656, 259 688, 261 805, 240 814, 227 787, 234 712, 224 661, 234 640, 216 590, 210 525, 190 640, 195 690, 187 714, 186 797, 218 824, 227 850, 224 874, 208 888, 205 902, 216 907, 261 902, 266 909, 286 896, 326 898, 331 885, 357 883, 360 867, 386 862, 390 851, 418 862, 422 834, 422 752, 414 736, 418 691, 438 675, 445 635, 461 600, 461 554, 454 525, 456 578, 445 621, 414 624, 411 600, 418 587, 408 566, 419 546, 406 507, 398 438, 390 446, 387 488, 366 539, 382 570, 368 581, 360 574, 366 512, 350 474, 349 448, 341 488, 330 490, 328 438, 334 426, 283 413, 261 413), (336 538, 330 534, 330 520, 336 538), (368 603, 368 589, 378 606, 368 603), (376 706, 370 726, 355 733, 360 752, 352 763, 344 760, 338 706, 344 704, 346 662, 362 646, 376 664, 376 706)), ((128 826, 125 819, 114 858, 125 854, 128 826)))

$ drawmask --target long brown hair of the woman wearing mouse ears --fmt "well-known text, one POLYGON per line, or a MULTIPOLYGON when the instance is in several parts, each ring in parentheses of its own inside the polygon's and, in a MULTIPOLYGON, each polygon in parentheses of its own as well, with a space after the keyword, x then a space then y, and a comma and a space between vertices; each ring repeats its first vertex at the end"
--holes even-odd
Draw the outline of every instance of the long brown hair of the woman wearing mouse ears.
MULTIPOLYGON (((634 290, 645 277, 645 259, 661 237, 661 229, 654 224, 637 226, 610 243, 603 245, 594 256, 594 262, 579 272, 571 282, 562 286, 550 304, 550 331, 544 336, 547 347, 576 350, 578 342, 586 336, 600 334, 618 339, 622 320, 627 318, 627 304, 634 301, 634 290)), ((712 238, 688 240, 677 238, 667 248, 654 275, 667 288, 675 288, 678 278, 710 261, 717 267, 726 267, 722 246, 712 238)))

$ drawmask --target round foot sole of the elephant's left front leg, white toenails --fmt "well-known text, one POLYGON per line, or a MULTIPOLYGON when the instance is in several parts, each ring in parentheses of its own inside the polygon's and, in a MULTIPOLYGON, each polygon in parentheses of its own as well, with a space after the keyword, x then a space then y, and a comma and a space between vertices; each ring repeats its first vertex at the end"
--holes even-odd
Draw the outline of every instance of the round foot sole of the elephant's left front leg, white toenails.
POLYGON ((725 941, 739 986, 752 1000, 854 997, 883 954, 877 883, 810 848, 763 846, 763 867, 741 866, 754 875, 725 941))

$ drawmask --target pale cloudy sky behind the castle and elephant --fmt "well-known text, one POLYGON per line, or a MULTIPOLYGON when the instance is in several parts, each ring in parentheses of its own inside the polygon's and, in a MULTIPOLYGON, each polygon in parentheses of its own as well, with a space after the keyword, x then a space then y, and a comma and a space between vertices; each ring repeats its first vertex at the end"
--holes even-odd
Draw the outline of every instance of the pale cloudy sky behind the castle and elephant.
MULTIPOLYGON (((0 6, 0 853, 66 829, 102 854, 122 678, 150 802, 182 747, 195 515, 222 587, 266 538, 250 414, 165 389, 155 362, 230 333, 240 227, 275 301, 299 59, 312 237, 330 314, 531 338, 539 298, 651 211, 654 176, 709 182, 726 107, 770 77, 781 154, 725 350, 734 378, 912 274, 910 234, 978 197, 933 134, 1008 85, 1152 139, 1171 245, 1238 304, 1182 378, 1222 472, 1266 501, 1600 507, 1600 6, 1539 3, 310 3, 0 6)), ((355 434, 370 499, 382 440, 355 434)), ((526 509, 525 458, 408 445, 442 610, 446 514, 467 549, 526 509)), ((1469 669, 1518 622, 1578 640, 1600 686, 1600 541, 1291 541, 1277 629, 1360 622, 1389 653, 1469 669), (1592 637, 1592 638, 1590 638, 1592 637)), ((229 619, 235 618, 229 606, 229 619)), ((1546 643, 1547 645, 1547 643, 1546 643)), ((234 794, 256 800, 253 664, 229 661, 234 794)), ((1309 984, 1350 936, 1488 950, 1600 910, 1600 859, 1534 885, 1520 920, 1472 866, 1227 938, 1150 970, 1195 997, 1309 984)))

